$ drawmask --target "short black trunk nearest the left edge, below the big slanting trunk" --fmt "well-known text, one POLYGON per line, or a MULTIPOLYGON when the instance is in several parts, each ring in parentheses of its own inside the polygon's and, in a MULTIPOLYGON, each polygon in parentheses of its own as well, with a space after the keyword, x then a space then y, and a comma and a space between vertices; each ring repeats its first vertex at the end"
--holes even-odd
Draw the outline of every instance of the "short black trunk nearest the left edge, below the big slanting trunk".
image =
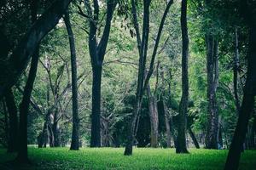
POLYGON ((9 142, 8 151, 18 150, 18 114, 15 104, 15 97, 11 89, 4 95, 5 102, 9 111, 9 142))

